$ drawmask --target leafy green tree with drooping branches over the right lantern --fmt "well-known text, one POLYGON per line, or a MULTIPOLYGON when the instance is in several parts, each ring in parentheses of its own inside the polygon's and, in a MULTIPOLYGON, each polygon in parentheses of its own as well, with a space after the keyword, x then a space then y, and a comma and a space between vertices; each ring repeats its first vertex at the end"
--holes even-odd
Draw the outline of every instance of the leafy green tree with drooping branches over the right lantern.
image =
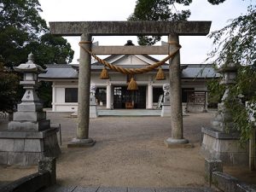
MULTIPOLYGON (((208 60, 212 59, 217 67, 228 63, 238 66, 236 84, 230 85, 225 105, 232 114, 236 130, 241 131, 241 141, 247 141, 253 129, 253 123, 248 120, 252 109, 244 102, 256 110, 256 5, 248 6, 247 14, 231 20, 209 37, 213 38, 215 47, 208 60), (241 102, 237 96, 243 96, 241 102)), ((212 85, 213 91, 219 89, 218 82, 212 85)))

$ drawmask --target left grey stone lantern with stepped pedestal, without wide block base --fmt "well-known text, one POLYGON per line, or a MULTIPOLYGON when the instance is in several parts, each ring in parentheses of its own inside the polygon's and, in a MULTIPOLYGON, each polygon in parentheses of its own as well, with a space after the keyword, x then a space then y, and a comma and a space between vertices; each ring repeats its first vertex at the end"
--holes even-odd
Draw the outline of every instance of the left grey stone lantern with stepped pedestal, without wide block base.
POLYGON ((49 127, 49 120, 43 112, 43 103, 40 102, 36 89, 38 87, 38 74, 46 71, 34 63, 32 53, 28 55, 28 61, 14 67, 16 72, 23 73, 23 80, 20 84, 26 90, 14 113, 14 121, 9 123, 9 130, 41 131, 49 127), (26 120, 26 125, 16 121, 26 120))

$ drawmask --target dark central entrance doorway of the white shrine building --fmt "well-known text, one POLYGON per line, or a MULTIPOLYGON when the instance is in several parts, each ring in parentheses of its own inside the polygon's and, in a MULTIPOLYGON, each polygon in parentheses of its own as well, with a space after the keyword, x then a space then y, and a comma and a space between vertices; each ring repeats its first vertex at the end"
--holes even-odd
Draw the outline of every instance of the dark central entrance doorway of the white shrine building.
POLYGON ((138 86, 137 90, 127 90, 127 85, 114 86, 113 108, 146 108, 146 86, 138 86))

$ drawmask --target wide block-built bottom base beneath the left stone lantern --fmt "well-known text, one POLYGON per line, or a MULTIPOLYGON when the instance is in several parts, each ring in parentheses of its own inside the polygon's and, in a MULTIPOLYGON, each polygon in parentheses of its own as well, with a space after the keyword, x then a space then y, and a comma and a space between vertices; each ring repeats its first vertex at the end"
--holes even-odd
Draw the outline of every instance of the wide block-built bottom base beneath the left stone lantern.
POLYGON ((44 157, 59 156, 57 131, 0 131, 0 164, 31 166, 44 157))

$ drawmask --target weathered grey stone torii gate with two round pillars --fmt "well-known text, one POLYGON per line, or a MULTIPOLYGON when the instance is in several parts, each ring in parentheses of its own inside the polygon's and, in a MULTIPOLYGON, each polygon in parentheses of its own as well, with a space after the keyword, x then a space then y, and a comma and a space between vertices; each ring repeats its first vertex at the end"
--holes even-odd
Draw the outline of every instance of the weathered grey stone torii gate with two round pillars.
MULTIPOLYGON (((205 36, 211 21, 83 21, 49 22, 50 32, 60 36, 80 36, 81 42, 91 42, 92 36, 168 36, 172 44, 166 46, 96 46, 81 44, 96 55, 168 55, 179 44, 179 36, 205 36)), ((89 137, 90 121, 90 54, 80 48, 79 60, 79 108, 77 136, 68 147, 89 147, 95 141, 89 137)), ((167 146, 189 143, 183 138, 183 113, 181 102, 180 54, 169 61, 171 88, 172 135, 166 139, 167 146)))

